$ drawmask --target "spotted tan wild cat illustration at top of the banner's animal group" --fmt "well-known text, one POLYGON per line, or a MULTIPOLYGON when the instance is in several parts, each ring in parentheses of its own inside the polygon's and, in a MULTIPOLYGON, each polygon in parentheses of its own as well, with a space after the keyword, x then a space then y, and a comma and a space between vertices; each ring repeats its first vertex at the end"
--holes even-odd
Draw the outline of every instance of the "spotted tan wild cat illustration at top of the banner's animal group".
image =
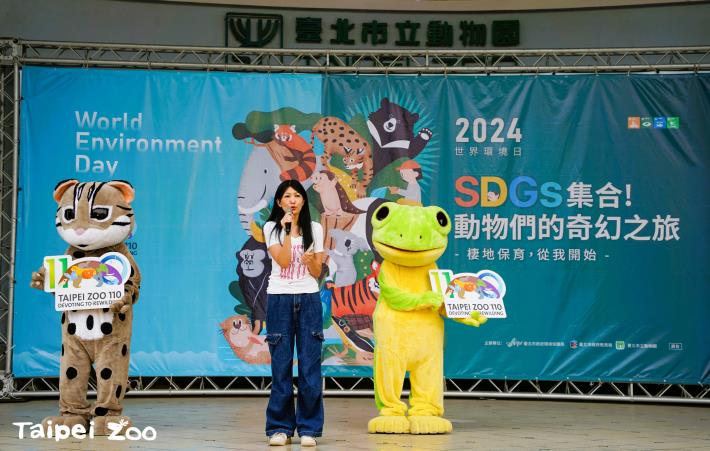
POLYGON ((365 197, 367 186, 372 181, 373 165, 370 144, 355 129, 337 117, 324 117, 313 126, 311 143, 317 137, 323 143, 321 164, 330 165, 333 154, 343 157, 343 164, 350 170, 351 188, 358 198, 365 197), (359 173, 362 172, 362 179, 359 173))

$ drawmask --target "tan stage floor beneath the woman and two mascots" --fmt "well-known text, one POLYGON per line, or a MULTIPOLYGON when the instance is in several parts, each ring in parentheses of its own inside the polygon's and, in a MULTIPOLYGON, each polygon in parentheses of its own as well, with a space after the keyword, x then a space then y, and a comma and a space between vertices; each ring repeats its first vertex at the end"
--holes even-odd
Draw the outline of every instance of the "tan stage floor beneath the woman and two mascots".
MULTIPOLYGON (((54 415, 56 400, 0 403, 0 449, 236 449, 268 450, 266 398, 128 398, 126 413, 140 428, 152 426, 154 441, 20 440, 13 422, 54 415)), ((367 398, 326 398, 320 450, 470 449, 710 449, 710 409, 648 404, 447 399, 454 432, 439 436, 371 435, 376 411, 367 398)), ((299 449, 298 439, 290 447, 299 449)))

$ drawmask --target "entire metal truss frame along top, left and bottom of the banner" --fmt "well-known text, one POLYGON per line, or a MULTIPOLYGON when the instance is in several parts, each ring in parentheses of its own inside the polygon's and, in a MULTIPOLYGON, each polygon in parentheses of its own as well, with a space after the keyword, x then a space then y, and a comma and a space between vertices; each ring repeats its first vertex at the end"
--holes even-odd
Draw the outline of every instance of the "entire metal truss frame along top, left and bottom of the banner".
MULTIPOLYGON (((137 46, 0 39, 0 400, 57 396, 58 378, 12 374, 20 70, 24 65, 350 74, 557 74, 710 70, 710 46, 553 50, 305 50, 137 46)), ((23 279, 20 280, 21 283, 23 279)), ((447 379, 448 397, 710 405, 710 387, 609 381, 447 379)), ((326 395, 372 396, 369 377, 325 377, 326 395)), ((150 376, 129 396, 266 395, 268 377, 150 376)), ((405 386, 405 393, 408 387, 405 386)), ((95 378, 89 381, 95 394, 95 378)))

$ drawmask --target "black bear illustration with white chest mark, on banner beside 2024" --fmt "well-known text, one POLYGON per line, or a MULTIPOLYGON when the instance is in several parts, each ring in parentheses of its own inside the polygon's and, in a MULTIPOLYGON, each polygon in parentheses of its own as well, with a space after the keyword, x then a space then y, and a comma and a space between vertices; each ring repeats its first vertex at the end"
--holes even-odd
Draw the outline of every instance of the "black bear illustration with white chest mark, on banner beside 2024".
POLYGON ((414 159, 429 143, 433 133, 423 128, 414 134, 414 124, 419 114, 382 99, 380 108, 370 113, 367 128, 373 140, 372 159, 374 173, 400 158, 414 159))

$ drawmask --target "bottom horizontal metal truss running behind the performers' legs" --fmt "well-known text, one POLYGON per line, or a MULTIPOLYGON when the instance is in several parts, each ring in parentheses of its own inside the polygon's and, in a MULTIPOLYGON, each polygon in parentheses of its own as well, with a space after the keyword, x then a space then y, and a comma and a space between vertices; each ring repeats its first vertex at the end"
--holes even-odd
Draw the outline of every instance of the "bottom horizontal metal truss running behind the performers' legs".
MULTIPOLYGON (((10 381, 11 389, 0 398, 47 397, 58 394, 58 378, 35 377, 10 381)), ((230 396, 268 395, 271 378, 259 376, 130 378, 129 396, 230 396)), ((369 377, 325 377, 326 396, 374 396, 369 377)), ((409 394, 405 381, 404 395, 409 394)), ((710 387, 641 382, 580 382, 496 379, 446 379, 445 395, 450 398, 516 398, 574 401, 616 401, 646 403, 710 404, 710 387)), ((298 387, 294 386, 294 389, 298 387)), ((96 379, 89 381, 90 395, 96 394, 96 379)))

